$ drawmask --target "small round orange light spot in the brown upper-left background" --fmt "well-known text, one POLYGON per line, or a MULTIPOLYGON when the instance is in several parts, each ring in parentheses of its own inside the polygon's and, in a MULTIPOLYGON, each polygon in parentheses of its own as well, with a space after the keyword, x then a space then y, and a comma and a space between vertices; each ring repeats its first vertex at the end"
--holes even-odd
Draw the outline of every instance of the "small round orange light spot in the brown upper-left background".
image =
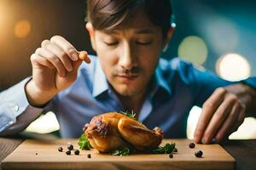
POLYGON ((26 37, 31 31, 31 23, 28 20, 20 20, 15 26, 15 36, 26 37))

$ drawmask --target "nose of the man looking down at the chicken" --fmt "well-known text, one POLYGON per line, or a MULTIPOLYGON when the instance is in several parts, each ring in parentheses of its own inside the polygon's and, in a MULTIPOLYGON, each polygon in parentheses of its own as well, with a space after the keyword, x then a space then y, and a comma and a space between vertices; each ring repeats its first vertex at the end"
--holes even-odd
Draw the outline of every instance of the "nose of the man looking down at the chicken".
POLYGON ((131 44, 128 42, 124 43, 123 50, 119 58, 119 65, 125 70, 131 70, 132 67, 137 66, 136 56, 132 51, 131 44))

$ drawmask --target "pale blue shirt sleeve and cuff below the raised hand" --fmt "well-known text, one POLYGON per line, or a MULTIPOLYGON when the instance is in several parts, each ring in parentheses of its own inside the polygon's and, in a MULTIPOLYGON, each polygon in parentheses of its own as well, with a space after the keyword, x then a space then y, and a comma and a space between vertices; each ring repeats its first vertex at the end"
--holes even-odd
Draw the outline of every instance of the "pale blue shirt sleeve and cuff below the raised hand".
POLYGON ((41 108, 29 105, 26 99, 24 87, 29 80, 30 77, 27 77, 0 94, 1 136, 20 133, 43 111, 41 108))

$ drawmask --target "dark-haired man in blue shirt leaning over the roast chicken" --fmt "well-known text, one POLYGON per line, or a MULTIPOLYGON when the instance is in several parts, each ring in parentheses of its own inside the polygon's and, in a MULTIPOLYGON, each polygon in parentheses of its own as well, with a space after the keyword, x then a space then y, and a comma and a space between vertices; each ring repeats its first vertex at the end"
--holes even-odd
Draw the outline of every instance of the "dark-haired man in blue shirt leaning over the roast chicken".
POLYGON ((181 59, 160 59, 174 31, 171 16, 169 0, 88 0, 86 29, 97 57, 61 36, 44 40, 31 56, 32 78, 0 94, 1 134, 54 111, 61 136, 78 137, 93 116, 135 111, 166 138, 185 138, 189 110, 199 105, 195 142, 226 138, 256 111, 255 78, 228 82, 181 59))

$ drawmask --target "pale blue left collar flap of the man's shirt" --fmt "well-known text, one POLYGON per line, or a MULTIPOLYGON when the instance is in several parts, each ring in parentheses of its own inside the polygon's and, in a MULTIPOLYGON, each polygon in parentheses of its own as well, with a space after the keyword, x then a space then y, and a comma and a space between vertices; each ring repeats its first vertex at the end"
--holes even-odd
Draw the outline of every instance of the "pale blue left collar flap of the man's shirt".
POLYGON ((108 81, 104 72, 102 71, 102 65, 98 58, 96 58, 96 67, 95 67, 95 75, 92 85, 92 95, 93 97, 97 97, 100 94, 108 91, 108 81))

